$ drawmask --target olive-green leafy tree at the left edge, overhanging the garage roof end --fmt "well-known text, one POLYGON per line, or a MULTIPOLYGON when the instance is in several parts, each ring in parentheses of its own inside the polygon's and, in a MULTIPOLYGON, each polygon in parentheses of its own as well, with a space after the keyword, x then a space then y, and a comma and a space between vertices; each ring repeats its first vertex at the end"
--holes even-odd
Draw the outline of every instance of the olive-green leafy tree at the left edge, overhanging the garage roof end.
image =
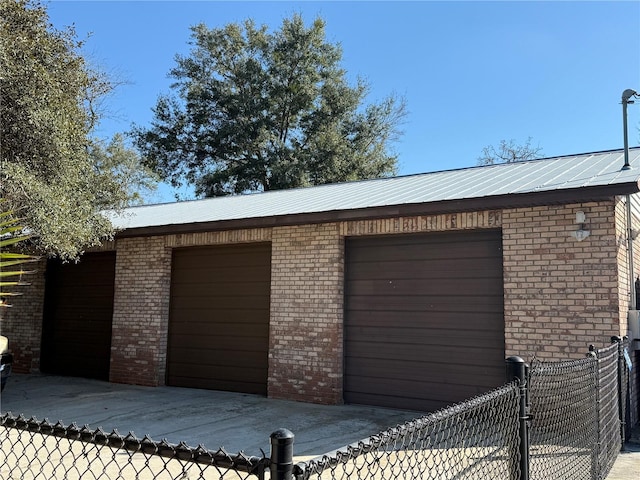
POLYGON ((41 251, 73 259, 113 235, 105 209, 131 197, 91 137, 113 84, 38 0, 0 0, 0 196, 41 251), (93 152, 93 154, 92 154, 93 152))

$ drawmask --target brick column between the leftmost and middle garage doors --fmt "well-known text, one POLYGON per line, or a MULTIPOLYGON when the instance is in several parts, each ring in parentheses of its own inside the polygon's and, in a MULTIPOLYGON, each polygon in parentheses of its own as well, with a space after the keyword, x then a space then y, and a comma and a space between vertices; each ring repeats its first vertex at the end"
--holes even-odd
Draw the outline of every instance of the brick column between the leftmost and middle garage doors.
POLYGON ((118 240, 110 381, 164 385, 170 283, 164 238, 118 240))

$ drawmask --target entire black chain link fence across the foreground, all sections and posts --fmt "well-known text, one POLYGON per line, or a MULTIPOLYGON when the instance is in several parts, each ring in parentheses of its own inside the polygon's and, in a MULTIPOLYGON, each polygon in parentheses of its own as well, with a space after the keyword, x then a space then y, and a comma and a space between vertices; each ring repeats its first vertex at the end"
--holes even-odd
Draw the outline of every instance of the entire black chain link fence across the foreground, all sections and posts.
POLYGON ((628 342, 556 363, 518 357, 517 379, 444 410, 294 464, 294 435, 270 457, 231 455, 133 433, 0 417, 0 478, 250 480, 604 479, 629 425, 628 342))

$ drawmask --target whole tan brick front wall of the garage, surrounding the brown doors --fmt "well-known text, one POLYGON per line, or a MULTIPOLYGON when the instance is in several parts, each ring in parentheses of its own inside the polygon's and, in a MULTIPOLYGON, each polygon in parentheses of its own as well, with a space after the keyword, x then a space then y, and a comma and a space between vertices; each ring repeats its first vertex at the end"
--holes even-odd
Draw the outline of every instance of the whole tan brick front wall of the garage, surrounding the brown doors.
MULTIPOLYGON (((172 248, 271 241, 269 395, 340 403, 344 238, 500 227, 507 355, 582 358, 588 344, 607 345, 624 328, 628 273, 626 245, 619 241, 624 212, 612 199, 119 239, 110 377, 164 383, 172 248), (578 210, 585 212, 591 232, 582 242, 571 237, 578 210)), ((22 371, 38 365, 44 277, 39 278, 3 322, 3 331, 14 337, 22 371)))

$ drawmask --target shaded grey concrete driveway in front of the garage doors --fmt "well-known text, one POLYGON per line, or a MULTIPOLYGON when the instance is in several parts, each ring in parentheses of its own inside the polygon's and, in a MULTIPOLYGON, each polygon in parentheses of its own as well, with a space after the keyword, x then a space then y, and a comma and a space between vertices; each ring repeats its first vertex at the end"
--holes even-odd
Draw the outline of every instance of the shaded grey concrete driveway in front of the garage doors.
POLYGON ((269 435, 287 428, 294 456, 320 456, 421 414, 357 405, 314 405, 257 395, 178 387, 140 387, 83 378, 12 375, 0 411, 102 427, 138 438, 269 454, 269 435))

